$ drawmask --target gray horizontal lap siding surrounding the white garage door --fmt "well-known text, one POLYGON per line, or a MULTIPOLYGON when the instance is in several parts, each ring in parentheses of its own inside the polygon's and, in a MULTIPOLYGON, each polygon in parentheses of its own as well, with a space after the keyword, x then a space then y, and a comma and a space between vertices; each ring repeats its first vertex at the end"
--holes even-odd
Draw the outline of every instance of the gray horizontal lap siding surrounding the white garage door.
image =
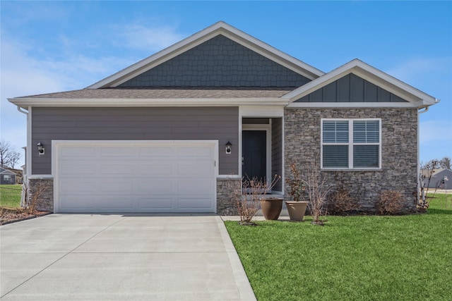
POLYGON ((45 154, 32 152, 32 174, 52 173, 52 140, 218 140, 220 175, 237 175, 238 154, 224 145, 239 145, 239 109, 34 107, 32 145, 42 142, 45 154))

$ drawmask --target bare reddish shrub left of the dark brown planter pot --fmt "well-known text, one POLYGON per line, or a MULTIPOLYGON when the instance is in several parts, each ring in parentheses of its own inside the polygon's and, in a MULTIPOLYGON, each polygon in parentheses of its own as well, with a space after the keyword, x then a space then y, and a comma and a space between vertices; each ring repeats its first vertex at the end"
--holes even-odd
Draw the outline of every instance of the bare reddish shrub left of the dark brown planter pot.
POLYGON ((242 187, 234 188, 234 201, 241 225, 253 225, 251 220, 260 208, 260 201, 272 190, 281 176, 275 175, 271 181, 258 178, 242 178, 242 187))

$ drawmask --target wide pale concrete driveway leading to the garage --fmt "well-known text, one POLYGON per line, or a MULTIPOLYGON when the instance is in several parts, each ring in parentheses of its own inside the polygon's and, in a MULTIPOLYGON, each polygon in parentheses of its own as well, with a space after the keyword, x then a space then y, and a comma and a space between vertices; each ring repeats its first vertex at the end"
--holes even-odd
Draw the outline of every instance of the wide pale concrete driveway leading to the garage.
POLYGON ((220 216, 50 214, 0 239, 1 300, 256 300, 220 216))

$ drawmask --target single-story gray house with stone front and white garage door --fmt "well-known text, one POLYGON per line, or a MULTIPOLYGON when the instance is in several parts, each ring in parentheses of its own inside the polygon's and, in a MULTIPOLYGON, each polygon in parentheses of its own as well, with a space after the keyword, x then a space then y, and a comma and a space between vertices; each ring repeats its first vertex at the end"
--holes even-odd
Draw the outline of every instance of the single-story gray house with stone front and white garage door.
POLYGON ((323 73, 218 22, 82 90, 8 99, 28 115, 30 189, 54 212, 237 214, 242 176, 312 162, 415 208, 418 116, 434 97, 354 59, 323 73))

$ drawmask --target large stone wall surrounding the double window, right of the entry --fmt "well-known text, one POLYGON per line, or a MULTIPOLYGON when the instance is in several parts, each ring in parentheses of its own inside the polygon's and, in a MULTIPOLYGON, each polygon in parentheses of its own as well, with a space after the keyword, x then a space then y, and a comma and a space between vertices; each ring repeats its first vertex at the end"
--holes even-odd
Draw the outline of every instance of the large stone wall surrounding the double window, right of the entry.
MULTIPOLYGON (((292 161, 302 170, 320 164, 321 118, 381 118, 381 170, 323 171, 336 188, 359 198, 362 211, 374 212, 383 190, 405 197, 406 212, 415 211, 417 190, 417 109, 285 109, 285 176, 292 161)), ((285 189, 285 199, 288 188, 285 189)))

